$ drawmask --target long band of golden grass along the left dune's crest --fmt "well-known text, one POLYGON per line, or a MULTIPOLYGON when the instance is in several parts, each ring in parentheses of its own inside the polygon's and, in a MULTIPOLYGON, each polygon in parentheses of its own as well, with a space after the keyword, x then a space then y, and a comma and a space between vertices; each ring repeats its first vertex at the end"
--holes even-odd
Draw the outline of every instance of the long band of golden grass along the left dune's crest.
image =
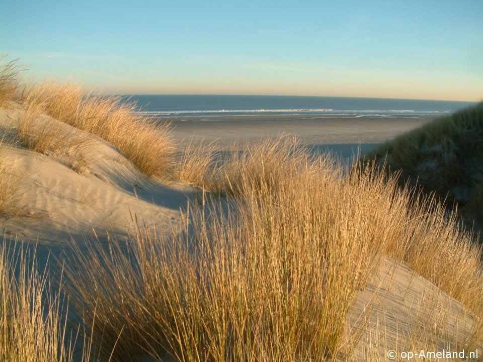
POLYGON ((37 107, 103 138, 147 177, 166 179, 173 172, 174 147, 168 125, 135 115, 136 105, 122 97, 86 93, 68 82, 44 82, 25 92, 24 106, 37 107))

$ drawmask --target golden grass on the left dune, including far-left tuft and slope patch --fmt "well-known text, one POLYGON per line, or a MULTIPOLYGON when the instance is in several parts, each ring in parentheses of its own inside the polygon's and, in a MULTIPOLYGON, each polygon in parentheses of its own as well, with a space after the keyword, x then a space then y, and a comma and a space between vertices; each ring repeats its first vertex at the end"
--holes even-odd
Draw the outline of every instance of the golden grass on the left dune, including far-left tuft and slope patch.
POLYGON ((65 145, 67 135, 61 127, 32 130, 32 116, 43 113, 103 138, 147 177, 170 177, 174 145, 168 124, 155 124, 152 119, 136 116, 136 105, 122 97, 99 96, 76 84, 21 83, 20 70, 16 60, 0 67, 0 106, 15 101, 27 110, 19 134, 30 149, 43 153, 65 145))

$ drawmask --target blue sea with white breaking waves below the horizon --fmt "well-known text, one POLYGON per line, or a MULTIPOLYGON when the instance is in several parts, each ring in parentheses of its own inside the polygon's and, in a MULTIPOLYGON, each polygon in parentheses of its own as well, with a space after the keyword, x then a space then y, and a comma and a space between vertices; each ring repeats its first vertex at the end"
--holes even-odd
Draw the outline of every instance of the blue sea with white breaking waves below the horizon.
POLYGON ((134 95, 137 111, 157 118, 260 115, 345 115, 348 117, 413 118, 444 116, 472 102, 380 98, 301 96, 134 95))

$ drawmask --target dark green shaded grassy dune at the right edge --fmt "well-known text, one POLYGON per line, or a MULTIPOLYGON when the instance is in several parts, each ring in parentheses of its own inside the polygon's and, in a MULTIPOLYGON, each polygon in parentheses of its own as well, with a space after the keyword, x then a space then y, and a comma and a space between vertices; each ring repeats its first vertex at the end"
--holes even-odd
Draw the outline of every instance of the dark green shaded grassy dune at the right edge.
POLYGON ((400 184, 419 185, 472 220, 483 221, 475 205, 483 199, 483 103, 396 137, 369 154, 388 172, 400 173, 400 184))

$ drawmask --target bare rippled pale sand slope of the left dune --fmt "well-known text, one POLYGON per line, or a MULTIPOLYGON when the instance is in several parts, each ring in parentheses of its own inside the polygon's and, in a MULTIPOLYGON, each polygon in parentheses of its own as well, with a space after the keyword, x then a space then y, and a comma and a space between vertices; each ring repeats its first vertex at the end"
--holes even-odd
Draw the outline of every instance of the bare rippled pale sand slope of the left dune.
MULTIPOLYGON (((22 111, 0 112, 0 124, 15 129, 22 111)), ((38 122, 41 127, 59 123, 48 116, 39 117, 38 122)), ((66 124, 61 126, 85 142, 52 155, 31 152, 10 142, 7 157, 15 160, 21 175, 14 196, 21 211, 20 216, 3 222, 7 235, 62 243, 91 227, 98 232, 126 235, 132 225, 131 214, 167 229, 179 222, 179 210, 194 197, 195 187, 153 182, 103 139, 66 124), (78 164, 72 166, 75 162, 78 164)))

